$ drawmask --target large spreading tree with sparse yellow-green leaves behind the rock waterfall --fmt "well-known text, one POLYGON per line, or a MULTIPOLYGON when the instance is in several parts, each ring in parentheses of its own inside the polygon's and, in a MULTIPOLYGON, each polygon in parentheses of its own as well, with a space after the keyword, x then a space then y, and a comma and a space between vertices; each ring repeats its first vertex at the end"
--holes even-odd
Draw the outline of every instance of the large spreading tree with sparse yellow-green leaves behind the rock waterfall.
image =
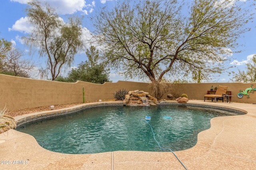
POLYGON ((95 38, 105 47, 105 60, 126 77, 146 75, 156 86, 164 76, 200 71, 206 78, 223 71, 225 49, 234 49, 236 39, 249 30, 242 27, 250 19, 249 1, 231 2, 194 0, 190 10, 180 0, 117 3, 92 18, 95 38))

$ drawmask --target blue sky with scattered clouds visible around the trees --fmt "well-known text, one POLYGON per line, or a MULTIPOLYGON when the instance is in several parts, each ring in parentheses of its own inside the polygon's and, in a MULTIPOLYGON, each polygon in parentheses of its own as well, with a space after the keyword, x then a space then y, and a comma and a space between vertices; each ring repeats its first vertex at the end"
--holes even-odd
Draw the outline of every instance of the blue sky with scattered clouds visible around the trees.
MULTIPOLYGON (((1 0, 0 4, 0 38, 11 41, 13 45, 25 52, 24 58, 35 61, 37 66, 44 65, 46 58, 39 58, 37 53, 29 55, 29 48, 22 43, 20 37, 28 35, 32 27, 26 21, 26 3, 28 0, 1 0)), ((40 0, 44 2, 45 0, 40 0)), ((246 1, 246 0, 242 0, 246 1)), ((84 35, 89 36, 88 33, 93 29, 90 24, 89 17, 95 14, 95 11, 103 6, 111 8, 115 4, 115 0, 46 0, 52 7, 57 8, 62 18, 65 18, 66 14, 84 15, 83 27, 84 35)), ((256 54, 256 19, 254 18, 253 23, 249 23, 248 27, 251 27, 251 31, 241 35, 241 38, 237 42, 242 45, 238 51, 241 53, 233 53, 230 57, 231 62, 226 63, 228 66, 236 66, 232 68, 234 71, 244 70, 246 63, 252 62, 252 56, 256 54)), ((75 56, 72 67, 77 66, 81 61, 87 60, 85 53, 79 53, 75 56)), ((63 71, 65 75, 68 72, 63 71)), ((212 82, 230 82, 230 78, 227 73, 220 75, 211 75, 212 82)), ((119 76, 114 70, 110 73, 110 80, 116 82, 118 80, 124 80, 123 77, 119 76)), ((131 81, 138 81, 136 79, 131 81)))

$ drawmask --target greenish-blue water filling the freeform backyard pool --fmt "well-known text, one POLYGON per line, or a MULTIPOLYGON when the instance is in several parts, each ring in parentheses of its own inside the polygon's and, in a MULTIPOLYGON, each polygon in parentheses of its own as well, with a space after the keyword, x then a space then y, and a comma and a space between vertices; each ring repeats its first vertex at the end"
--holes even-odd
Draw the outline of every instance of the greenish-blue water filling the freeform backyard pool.
POLYGON ((165 151, 156 143, 153 129, 162 148, 178 151, 193 147, 198 133, 210 128, 210 119, 226 115, 234 113, 184 105, 99 106, 25 123, 16 130, 32 135, 45 149, 60 153, 165 151))

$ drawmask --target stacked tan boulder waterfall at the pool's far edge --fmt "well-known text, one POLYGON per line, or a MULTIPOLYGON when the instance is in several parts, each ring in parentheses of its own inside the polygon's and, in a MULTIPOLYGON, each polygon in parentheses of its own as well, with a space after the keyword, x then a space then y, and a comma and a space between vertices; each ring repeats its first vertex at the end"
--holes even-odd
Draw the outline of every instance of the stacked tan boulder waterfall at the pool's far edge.
POLYGON ((157 105, 158 101, 153 96, 150 96, 148 92, 134 90, 129 91, 128 94, 125 95, 123 104, 127 106, 150 106, 157 105))

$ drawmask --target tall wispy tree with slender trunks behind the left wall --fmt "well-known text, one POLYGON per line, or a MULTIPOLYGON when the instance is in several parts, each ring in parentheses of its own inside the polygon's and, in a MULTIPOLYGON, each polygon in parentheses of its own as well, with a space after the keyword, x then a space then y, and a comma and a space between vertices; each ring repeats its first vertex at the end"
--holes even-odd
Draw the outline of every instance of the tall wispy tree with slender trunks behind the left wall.
POLYGON ((64 65, 70 66, 83 45, 81 19, 70 17, 68 23, 64 23, 54 8, 38 0, 28 2, 26 12, 34 30, 24 40, 30 47, 39 48, 40 56, 48 57, 46 69, 41 73, 47 75, 50 71, 54 80, 64 65))

